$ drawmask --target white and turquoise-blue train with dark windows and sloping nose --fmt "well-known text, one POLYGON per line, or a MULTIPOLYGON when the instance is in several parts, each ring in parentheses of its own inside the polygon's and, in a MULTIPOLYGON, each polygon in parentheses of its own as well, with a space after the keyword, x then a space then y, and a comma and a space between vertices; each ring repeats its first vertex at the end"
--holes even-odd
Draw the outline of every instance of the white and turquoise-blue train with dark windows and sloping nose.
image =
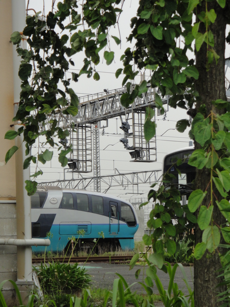
MULTIPOLYGON (((98 233, 104 233, 98 245, 134 248, 134 235, 138 229, 138 218, 132 204, 107 194, 68 188, 38 186, 31 196, 32 238, 50 238, 47 251, 63 251, 69 238, 78 238, 76 248, 93 247, 98 233)), ((33 252, 45 250, 43 246, 32 247, 33 252)))

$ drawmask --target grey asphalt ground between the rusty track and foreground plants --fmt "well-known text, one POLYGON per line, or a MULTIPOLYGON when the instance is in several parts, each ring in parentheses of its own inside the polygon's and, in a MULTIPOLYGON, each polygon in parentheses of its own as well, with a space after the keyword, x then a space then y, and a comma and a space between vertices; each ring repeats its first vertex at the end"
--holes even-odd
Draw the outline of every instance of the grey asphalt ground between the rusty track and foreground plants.
MULTIPOLYGON (((129 270, 129 266, 125 264, 108 264, 108 263, 89 263, 86 264, 85 267, 88 269, 89 273, 92 275, 93 279, 93 286, 98 288, 106 288, 108 290, 111 290, 113 288, 113 280, 114 278, 118 278, 116 273, 121 274, 128 285, 130 286, 132 283, 136 282, 132 287, 131 290, 137 293, 145 293, 145 290, 143 287, 138 283, 142 282, 145 275, 145 270, 148 268, 148 266, 138 266, 136 265, 132 270, 129 270), (135 278, 135 272, 136 270, 141 269, 141 273, 139 275, 139 278, 135 278)), ((184 266, 187 279, 189 281, 189 284, 191 288, 193 289, 193 267, 190 266, 184 266)), ((169 283, 169 277, 168 274, 164 273, 161 270, 157 270, 158 277, 160 281, 163 284, 164 289, 166 290, 168 288, 169 283)), ((174 282, 178 284, 178 289, 182 290, 184 294, 188 294, 187 287, 185 285, 185 282, 183 281, 183 275, 178 267, 176 270, 174 282)), ((158 290, 156 285, 153 286, 153 293, 158 294, 158 290)), ((155 306, 163 306, 162 304, 155 304, 155 306)))

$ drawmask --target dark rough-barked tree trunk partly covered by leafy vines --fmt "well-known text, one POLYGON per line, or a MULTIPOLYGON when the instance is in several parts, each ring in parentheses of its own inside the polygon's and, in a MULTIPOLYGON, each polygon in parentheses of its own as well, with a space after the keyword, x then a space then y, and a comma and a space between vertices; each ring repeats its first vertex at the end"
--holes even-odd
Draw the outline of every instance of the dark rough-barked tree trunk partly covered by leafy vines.
MULTIPOLYGON (((202 6, 197 6, 197 15, 198 11, 205 11, 206 2, 202 2, 202 6)), ((210 65, 209 70, 206 70, 207 62, 207 45, 203 43, 199 52, 196 52, 196 68, 199 72, 199 79, 196 83, 196 90, 199 93, 199 101, 197 102, 196 108, 197 111, 199 107, 204 104, 206 107, 206 116, 210 114, 210 111, 213 109, 212 100, 223 99, 226 100, 225 94, 225 84, 224 84, 224 51, 225 51, 225 28, 226 28, 226 18, 224 14, 226 11, 229 12, 226 8, 223 10, 217 4, 216 1, 208 2, 208 11, 214 9, 217 18, 214 24, 209 26, 209 29, 212 31, 214 36, 214 50, 220 56, 218 63, 216 64, 215 59, 210 65)), ((226 15, 225 15, 226 16, 226 15)), ((199 20, 197 21, 199 22, 199 20)), ((202 23, 200 26, 199 32, 205 33, 206 28, 202 23)), ((209 48, 211 48, 209 46, 209 48)), ((215 110, 220 113, 220 111, 215 110)), ((222 111, 223 113, 223 111, 222 111)), ((195 142, 195 149, 199 149, 199 144, 195 142)), ((209 169, 201 169, 196 172, 196 189, 201 189, 205 191, 208 183, 210 181, 210 172, 209 169)), ((215 187, 214 187, 215 188, 215 187)), ((220 194, 215 190, 215 195, 218 200, 221 199, 220 194)), ((210 202, 210 185, 207 189, 207 195, 202 202, 202 205, 209 206, 210 202)), ((199 211, 199 210, 198 210, 199 211)), ((198 216, 197 212, 197 216, 198 216)), ((226 223, 226 219, 219 211, 215 200, 214 200, 214 209, 213 209, 213 219, 218 225, 226 223)), ((195 245, 199 242, 202 242, 202 233, 197 226, 195 229, 195 245)), ((217 302, 218 298, 216 295, 219 292, 226 290, 224 287, 218 287, 218 283, 221 282, 221 278, 217 278, 220 272, 217 272, 221 268, 220 257, 218 253, 223 253, 223 249, 216 250, 212 255, 209 252, 206 252, 205 255, 200 260, 195 260, 194 262, 194 302, 196 307, 211 307, 211 306, 220 306, 222 303, 217 302)))

